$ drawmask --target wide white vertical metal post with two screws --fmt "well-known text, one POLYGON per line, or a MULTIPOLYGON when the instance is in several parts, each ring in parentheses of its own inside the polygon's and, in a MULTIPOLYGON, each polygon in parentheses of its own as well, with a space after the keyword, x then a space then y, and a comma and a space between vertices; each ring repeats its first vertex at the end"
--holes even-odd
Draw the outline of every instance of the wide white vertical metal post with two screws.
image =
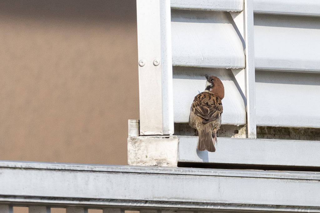
POLYGON ((173 134, 170 0, 137 0, 140 135, 173 134))

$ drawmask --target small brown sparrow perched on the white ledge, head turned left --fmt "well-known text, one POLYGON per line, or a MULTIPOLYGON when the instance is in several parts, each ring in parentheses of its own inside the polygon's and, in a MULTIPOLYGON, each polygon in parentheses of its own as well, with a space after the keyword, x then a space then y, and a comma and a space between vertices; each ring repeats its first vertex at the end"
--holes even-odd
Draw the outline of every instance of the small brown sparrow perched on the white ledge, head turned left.
POLYGON ((217 130, 221 125, 222 103, 224 98, 224 86, 216 76, 205 75, 207 79, 204 92, 196 95, 193 100, 189 124, 196 129, 199 135, 198 150, 215 152, 217 142, 217 130))

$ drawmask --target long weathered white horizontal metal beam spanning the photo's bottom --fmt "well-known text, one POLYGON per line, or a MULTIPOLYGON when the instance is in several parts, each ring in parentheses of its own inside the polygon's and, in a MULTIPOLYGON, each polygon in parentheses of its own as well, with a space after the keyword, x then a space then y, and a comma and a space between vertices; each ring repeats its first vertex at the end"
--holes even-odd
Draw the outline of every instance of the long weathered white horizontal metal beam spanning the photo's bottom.
POLYGON ((189 211, 320 212, 320 175, 0 162, 0 202, 189 211))

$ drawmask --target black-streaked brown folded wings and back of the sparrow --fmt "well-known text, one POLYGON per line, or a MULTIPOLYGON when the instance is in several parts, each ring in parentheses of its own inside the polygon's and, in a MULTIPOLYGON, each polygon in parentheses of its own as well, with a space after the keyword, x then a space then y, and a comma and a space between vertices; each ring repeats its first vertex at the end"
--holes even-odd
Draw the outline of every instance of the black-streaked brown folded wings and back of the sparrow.
POLYGON ((194 113, 204 119, 203 123, 216 120, 223 111, 221 99, 211 92, 201 92, 192 103, 194 113))

